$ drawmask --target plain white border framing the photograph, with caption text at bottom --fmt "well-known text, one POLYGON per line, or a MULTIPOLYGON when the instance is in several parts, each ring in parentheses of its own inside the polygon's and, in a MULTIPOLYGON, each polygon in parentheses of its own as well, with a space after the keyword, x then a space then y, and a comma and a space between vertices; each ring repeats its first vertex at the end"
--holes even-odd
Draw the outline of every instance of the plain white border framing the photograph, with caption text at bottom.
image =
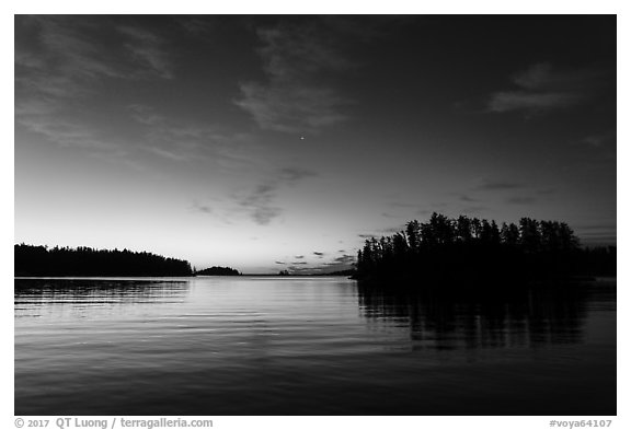
MULTIPOLYGON (((2 428, 14 427, 13 417, 13 14, 14 13, 114 13, 114 14, 164 14, 164 13, 213 13, 213 14, 288 14, 288 13, 326 13, 326 14, 392 14, 392 13, 535 13, 535 14, 592 14, 592 13, 615 13, 618 14, 618 141, 621 142, 618 151, 618 218, 622 221, 629 220, 629 199, 627 191, 631 184, 629 173, 624 168, 629 160, 629 109, 626 103, 629 101, 629 85, 627 77, 629 73, 629 5, 623 1, 552 1, 552 0, 530 0, 527 2, 509 2, 507 0, 459 0, 459 1, 411 1, 411 0, 388 0, 368 2, 351 2, 341 0, 324 0, 318 2, 277 1, 277 0, 249 0, 234 2, 217 1, 122 1, 110 0, 106 2, 85 1, 4 1, 2 2, 2 53, 3 59, 3 85, 2 101, 4 102, 4 115, 2 120, 4 126, 4 142, 1 146, 2 163, 2 262, 3 274, 5 276, 4 288, 2 289, 2 340, 5 348, 2 351, 2 428), (360 4, 358 8, 357 4, 360 4), (9 136, 10 135, 10 136, 9 136), (627 193, 626 193, 627 191, 627 193)), ((629 262, 627 244, 629 228, 624 223, 618 223, 618 247, 619 247, 619 274, 618 274, 618 417, 613 417, 612 428, 629 428, 629 371, 624 365, 631 363, 629 357, 629 341, 624 327, 629 324, 629 292, 628 292, 628 270, 622 262, 629 262), (628 422, 623 425, 623 422, 628 422)), ((56 417, 50 417, 56 418, 56 417)), ((147 417, 152 418, 152 417, 147 417)), ((186 417, 192 418, 192 417, 186 417)), ((484 428, 484 429, 543 429, 549 428, 552 418, 570 420, 571 417, 211 417, 215 427, 221 429, 295 429, 300 428, 367 428, 383 429, 394 426, 410 426, 424 429, 437 428, 484 428)), ((585 417, 589 418, 589 417, 585 417)), ((606 417, 603 417, 606 418, 606 417)), ((49 427, 53 428, 53 427, 49 427)))

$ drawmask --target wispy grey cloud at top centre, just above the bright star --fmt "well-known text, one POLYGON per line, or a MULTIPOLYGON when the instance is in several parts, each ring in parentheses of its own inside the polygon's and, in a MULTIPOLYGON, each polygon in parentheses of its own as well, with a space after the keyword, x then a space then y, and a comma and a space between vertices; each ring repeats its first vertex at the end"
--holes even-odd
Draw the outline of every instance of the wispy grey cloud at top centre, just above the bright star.
POLYGON ((251 114, 267 130, 317 132, 346 119, 348 103, 330 86, 319 83, 322 73, 348 68, 317 24, 259 28, 267 82, 241 83, 237 106, 251 114))

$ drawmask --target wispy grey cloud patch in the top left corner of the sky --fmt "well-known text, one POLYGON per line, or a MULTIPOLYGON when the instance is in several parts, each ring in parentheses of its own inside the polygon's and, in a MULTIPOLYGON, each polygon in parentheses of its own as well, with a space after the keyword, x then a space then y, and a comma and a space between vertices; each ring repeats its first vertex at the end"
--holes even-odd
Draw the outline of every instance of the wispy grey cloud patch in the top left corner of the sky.
POLYGON ((108 18, 15 18, 16 91, 49 97, 94 94, 104 79, 172 78, 163 40, 108 18))

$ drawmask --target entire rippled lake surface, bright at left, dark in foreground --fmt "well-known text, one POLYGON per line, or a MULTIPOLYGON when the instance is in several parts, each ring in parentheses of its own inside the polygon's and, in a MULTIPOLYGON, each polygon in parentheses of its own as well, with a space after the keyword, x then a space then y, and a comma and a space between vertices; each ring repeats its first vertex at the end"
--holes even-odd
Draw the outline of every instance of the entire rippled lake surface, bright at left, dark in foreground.
POLYGON ((387 291, 16 279, 15 415, 616 415, 615 282, 387 291))

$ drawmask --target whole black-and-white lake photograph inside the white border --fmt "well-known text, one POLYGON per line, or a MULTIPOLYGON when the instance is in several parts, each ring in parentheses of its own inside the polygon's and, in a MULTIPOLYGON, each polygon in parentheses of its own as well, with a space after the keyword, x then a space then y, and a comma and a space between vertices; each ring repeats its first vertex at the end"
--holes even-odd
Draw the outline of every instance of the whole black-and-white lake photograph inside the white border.
POLYGON ((14 416, 616 427, 617 20, 14 14, 14 416))

